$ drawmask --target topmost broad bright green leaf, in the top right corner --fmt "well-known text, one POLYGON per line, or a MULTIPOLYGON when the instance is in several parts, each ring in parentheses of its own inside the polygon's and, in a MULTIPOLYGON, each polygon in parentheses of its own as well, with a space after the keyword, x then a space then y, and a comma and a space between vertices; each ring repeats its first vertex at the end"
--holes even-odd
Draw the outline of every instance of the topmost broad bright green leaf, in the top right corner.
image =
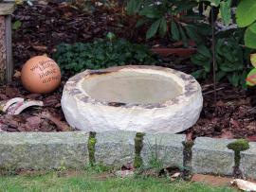
POLYGON ((251 25, 256 20, 256 1, 242 0, 236 9, 236 22, 238 26, 251 25))

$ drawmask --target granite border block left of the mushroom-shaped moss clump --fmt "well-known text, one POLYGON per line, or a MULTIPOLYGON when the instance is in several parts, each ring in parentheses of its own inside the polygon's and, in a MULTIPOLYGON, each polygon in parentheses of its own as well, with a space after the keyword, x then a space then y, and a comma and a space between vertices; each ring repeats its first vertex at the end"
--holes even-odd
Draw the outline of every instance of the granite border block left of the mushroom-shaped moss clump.
POLYGON ((192 147, 192 172, 231 175, 234 152, 227 148, 233 140, 199 137, 192 147))

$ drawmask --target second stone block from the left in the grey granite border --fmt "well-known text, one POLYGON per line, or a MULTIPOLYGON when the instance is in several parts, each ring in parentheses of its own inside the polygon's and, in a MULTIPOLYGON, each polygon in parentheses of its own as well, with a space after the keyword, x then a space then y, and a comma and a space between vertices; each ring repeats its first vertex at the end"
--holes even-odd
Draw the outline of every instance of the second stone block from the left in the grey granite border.
POLYGON ((96 133, 95 160, 104 166, 126 166, 135 157, 135 131, 96 133))

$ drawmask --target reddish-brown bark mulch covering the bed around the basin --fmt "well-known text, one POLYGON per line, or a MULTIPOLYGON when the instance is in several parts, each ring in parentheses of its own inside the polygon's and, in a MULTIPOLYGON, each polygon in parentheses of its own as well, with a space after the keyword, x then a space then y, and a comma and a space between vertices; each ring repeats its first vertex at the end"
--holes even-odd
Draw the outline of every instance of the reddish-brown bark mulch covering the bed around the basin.
MULTIPOLYGON (((144 42, 145 30, 133 29, 136 18, 122 14, 122 9, 98 8, 93 14, 67 4, 39 1, 29 7, 20 6, 13 15, 13 22, 22 26, 13 32, 13 57, 16 74, 13 82, 0 87, 0 100, 15 96, 43 100, 44 108, 28 109, 19 115, 2 114, 0 131, 69 131, 64 121, 60 99, 67 77, 62 86, 49 95, 30 94, 21 85, 19 71, 22 64, 35 55, 51 54, 57 44, 89 42, 105 37, 108 31, 137 43, 158 46, 161 41, 144 42), (41 3, 40 3, 41 2, 41 3), (46 115, 47 114, 47 115, 46 115)), ((170 56, 163 59, 162 66, 186 73, 194 68, 188 57, 170 56)), ((210 80, 210 79, 209 79, 210 80)), ((210 136, 218 138, 248 138, 256 141, 255 90, 234 88, 228 82, 217 85, 217 103, 214 103, 213 85, 200 82, 204 96, 204 108, 198 122, 188 131, 191 138, 210 136)))

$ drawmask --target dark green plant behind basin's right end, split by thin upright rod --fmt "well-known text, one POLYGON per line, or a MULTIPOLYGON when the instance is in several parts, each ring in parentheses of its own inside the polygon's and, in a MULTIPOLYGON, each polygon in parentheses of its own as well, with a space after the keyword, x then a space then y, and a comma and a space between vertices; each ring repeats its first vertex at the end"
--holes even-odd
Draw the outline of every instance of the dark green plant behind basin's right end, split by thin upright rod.
MULTIPOLYGON (((228 79, 233 86, 245 85, 246 65, 244 50, 234 38, 220 38, 216 42, 216 79, 228 79)), ((192 56, 192 63, 199 69, 192 73, 196 79, 206 79, 210 74, 212 61, 211 50, 205 45, 197 48, 192 56)))

